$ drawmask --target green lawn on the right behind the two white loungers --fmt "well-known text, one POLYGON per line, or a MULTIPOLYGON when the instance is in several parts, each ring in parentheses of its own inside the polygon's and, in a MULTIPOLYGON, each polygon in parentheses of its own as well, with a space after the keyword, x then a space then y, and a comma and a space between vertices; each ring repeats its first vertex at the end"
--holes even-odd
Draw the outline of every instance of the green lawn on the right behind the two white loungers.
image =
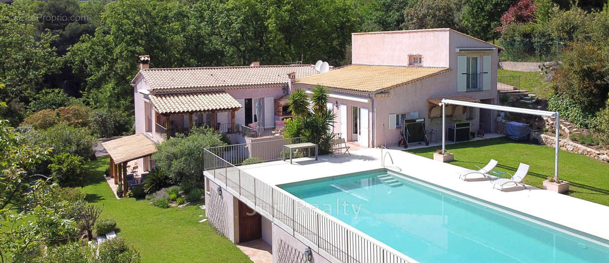
MULTIPOLYGON (((407 152, 433 158, 432 154, 442 147, 407 150, 407 152)), ((524 144, 506 138, 462 142, 446 146, 454 153, 451 164, 477 169, 485 166, 490 158, 499 161, 496 170, 513 174, 519 163, 530 165, 525 183, 541 188, 541 181, 554 175, 554 148, 535 144, 524 144)), ((609 206, 609 163, 587 156, 561 150, 558 153, 558 176, 571 182, 568 195, 609 206)))

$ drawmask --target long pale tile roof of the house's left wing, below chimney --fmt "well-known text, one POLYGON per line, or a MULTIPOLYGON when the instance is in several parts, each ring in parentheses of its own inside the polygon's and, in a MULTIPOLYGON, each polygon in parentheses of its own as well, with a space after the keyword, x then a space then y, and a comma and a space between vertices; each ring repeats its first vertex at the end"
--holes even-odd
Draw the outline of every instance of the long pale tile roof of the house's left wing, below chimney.
POLYGON ((150 88, 159 90, 287 83, 290 72, 296 72, 297 78, 319 73, 314 65, 278 65, 151 68, 141 69, 138 76, 143 75, 150 88))

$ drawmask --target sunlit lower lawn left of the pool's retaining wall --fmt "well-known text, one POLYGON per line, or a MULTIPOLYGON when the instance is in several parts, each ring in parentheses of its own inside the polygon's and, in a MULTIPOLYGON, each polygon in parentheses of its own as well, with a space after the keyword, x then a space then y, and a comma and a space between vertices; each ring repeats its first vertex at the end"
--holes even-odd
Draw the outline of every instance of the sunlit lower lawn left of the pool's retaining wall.
POLYGON ((104 206, 101 217, 118 222, 118 236, 141 251, 142 262, 251 262, 230 240, 199 223, 198 206, 161 209, 147 200, 117 200, 104 180, 109 158, 86 164, 88 181, 82 191, 88 202, 104 206))

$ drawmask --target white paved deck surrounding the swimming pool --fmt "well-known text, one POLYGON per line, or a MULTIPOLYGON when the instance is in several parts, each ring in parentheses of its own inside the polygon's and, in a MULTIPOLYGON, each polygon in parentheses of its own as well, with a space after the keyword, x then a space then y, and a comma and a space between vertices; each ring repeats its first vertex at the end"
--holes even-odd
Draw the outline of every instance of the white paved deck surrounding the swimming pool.
MULTIPOLYGON (((401 174, 609 240, 609 206, 533 186, 499 191, 493 189, 488 180, 460 180, 458 173, 465 168, 400 150, 389 152, 393 157, 393 166, 399 167, 401 174)), ((523 161, 526 163, 526 160, 523 161)), ((389 160, 385 163, 391 165, 389 160)), ((241 169, 254 177, 273 185, 381 168, 380 149, 361 149, 353 151, 351 155, 337 157, 322 155, 317 161, 300 158, 295 159, 294 164, 274 161, 241 166, 241 169)))

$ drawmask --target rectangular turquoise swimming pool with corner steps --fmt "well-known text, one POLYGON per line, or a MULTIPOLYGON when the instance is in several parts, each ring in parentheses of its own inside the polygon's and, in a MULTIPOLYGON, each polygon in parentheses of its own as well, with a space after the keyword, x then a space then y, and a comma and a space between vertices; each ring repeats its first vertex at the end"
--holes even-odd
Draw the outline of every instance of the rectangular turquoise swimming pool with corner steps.
POLYGON ((419 262, 609 262, 606 240, 390 170, 279 187, 419 262))

